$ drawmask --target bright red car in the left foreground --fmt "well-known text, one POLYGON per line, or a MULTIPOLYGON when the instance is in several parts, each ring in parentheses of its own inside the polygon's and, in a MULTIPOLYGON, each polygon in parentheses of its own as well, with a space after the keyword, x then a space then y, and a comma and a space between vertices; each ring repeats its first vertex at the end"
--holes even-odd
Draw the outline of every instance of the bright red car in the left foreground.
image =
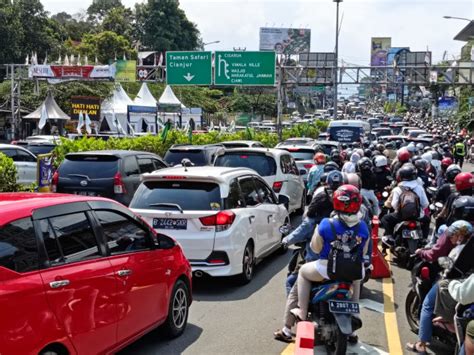
POLYGON ((113 353, 162 326, 183 333, 180 246, 104 198, 0 194, 0 354, 113 353))

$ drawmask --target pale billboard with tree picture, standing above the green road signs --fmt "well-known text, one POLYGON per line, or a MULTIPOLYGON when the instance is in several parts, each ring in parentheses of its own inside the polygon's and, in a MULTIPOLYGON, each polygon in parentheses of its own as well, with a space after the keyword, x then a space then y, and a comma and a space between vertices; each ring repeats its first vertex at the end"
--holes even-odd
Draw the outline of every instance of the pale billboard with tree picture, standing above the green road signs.
POLYGON ((277 54, 299 54, 309 52, 311 30, 308 28, 260 28, 260 50, 277 54))

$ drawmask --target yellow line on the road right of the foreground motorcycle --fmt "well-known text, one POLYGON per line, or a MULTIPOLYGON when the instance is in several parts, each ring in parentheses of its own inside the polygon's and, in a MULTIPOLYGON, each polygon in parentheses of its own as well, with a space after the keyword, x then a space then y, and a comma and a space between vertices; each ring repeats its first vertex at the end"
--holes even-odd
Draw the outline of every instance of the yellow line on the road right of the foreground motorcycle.
MULTIPOLYGON (((389 260, 392 259, 390 251, 388 251, 388 257, 389 260)), ((389 269, 391 269, 390 264, 389 269)), ((397 313, 395 310, 395 294, 393 292, 392 276, 386 277, 382 280, 382 292, 388 352, 389 354, 403 354, 402 342, 398 331, 397 313)))

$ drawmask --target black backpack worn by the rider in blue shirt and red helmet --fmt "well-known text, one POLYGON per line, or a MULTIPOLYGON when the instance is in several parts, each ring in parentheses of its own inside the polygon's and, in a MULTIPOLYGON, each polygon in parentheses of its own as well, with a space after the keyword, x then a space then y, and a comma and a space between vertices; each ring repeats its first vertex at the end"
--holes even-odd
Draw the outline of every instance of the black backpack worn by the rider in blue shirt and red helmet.
POLYGON ((358 241, 360 223, 353 231, 351 237, 339 239, 333 219, 329 219, 334 241, 328 256, 328 276, 331 280, 355 281, 363 277, 362 273, 362 245, 358 241))

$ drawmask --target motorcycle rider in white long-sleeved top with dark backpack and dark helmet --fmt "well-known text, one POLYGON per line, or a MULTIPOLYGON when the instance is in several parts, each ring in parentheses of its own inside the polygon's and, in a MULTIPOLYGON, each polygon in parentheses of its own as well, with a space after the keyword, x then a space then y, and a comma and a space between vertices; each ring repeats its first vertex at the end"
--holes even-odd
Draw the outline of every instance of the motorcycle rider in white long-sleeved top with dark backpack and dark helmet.
POLYGON ((418 182, 416 168, 413 164, 404 164, 398 171, 400 182, 392 191, 391 207, 395 212, 388 213, 382 217, 382 225, 385 228, 385 236, 382 238, 384 244, 391 246, 395 240, 393 238, 393 230, 395 226, 402 222, 400 215, 400 196, 405 190, 411 190, 418 196, 419 215, 412 218, 418 219, 421 223, 423 236, 426 239, 429 233, 430 219, 425 216, 424 210, 429 206, 428 198, 423 187, 418 182))

